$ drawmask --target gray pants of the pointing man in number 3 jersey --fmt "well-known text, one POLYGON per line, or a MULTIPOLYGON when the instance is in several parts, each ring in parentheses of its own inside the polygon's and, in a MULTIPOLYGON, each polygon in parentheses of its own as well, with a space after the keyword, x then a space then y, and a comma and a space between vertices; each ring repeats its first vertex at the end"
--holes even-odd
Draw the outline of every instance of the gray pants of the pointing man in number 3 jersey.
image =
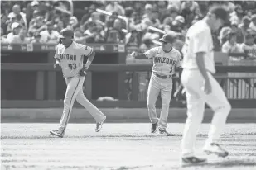
POLYGON ((167 119, 169 113, 169 105, 171 101, 171 91, 172 91, 172 79, 171 78, 158 78, 154 73, 150 78, 147 89, 147 110, 148 116, 151 122, 157 123, 157 112, 156 112, 156 101, 161 92, 162 99, 162 110, 160 114, 160 120, 158 127, 161 130, 167 129, 167 119))

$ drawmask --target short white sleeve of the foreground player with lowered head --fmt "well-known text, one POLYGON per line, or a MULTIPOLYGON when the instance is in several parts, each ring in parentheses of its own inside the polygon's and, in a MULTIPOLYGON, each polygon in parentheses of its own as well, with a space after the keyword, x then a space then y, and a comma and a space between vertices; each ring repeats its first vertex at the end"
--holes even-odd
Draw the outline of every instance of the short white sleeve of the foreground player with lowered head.
POLYGON ((209 35, 206 31, 200 32, 194 36, 193 53, 208 52, 209 51, 209 35))

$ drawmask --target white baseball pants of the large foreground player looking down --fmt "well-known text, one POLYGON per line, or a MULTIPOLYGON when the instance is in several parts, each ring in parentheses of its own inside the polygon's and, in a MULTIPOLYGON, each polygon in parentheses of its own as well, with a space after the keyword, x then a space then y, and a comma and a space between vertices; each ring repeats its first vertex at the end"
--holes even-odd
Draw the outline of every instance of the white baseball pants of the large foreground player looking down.
POLYGON ((186 90, 187 102, 187 118, 181 140, 182 157, 194 156, 194 144, 196 141, 196 133, 203 120, 205 102, 215 111, 213 116, 208 139, 205 144, 218 142, 221 130, 224 129, 227 116, 231 110, 231 106, 225 97, 225 92, 220 84, 208 72, 212 92, 208 95, 203 91, 204 78, 199 70, 184 69, 181 74, 181 83, 186 90))

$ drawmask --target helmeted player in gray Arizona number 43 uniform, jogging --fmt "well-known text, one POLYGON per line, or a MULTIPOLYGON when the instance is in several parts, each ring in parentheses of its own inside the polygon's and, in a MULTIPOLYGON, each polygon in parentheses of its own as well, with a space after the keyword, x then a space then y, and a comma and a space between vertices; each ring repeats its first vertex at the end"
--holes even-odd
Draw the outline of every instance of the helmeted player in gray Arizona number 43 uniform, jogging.
POLYGON ((51 135, 59 137, 65 135, 66 126, 70 119, 75 99, 80 105, 84 106, 92 116, 94 116, 96 121, 96 132, 101 130, 104 120, 106 119, 106 116, 104 116, 104 114, 85 97, 82 88, 86 72, 94 59, 95 52, 91 47, 73 41, 73 37, 74 32, 69 29, 65 28, 60 31, 61 42, 57 45, 55 54, 56 64, 54 66, 55 68, 61 67, 67 85, 63 114, 60 119, 60 127, 50 131, 51 135), (83 61, 85 56, 88 57, 88 60, 84 66, 83 61))

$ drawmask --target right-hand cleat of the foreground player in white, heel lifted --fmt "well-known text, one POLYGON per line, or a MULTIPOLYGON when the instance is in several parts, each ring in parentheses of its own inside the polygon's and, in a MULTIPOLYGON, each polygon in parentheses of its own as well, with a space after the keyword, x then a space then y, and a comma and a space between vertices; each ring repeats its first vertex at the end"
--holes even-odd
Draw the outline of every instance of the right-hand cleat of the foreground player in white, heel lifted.
POLYGON ((216 154, 219 157, 225 158, 229 155, 229 152, 222 149, 219 144, 211 143, 206 144, 203 148, 204 152, 207 154, 216 154))

